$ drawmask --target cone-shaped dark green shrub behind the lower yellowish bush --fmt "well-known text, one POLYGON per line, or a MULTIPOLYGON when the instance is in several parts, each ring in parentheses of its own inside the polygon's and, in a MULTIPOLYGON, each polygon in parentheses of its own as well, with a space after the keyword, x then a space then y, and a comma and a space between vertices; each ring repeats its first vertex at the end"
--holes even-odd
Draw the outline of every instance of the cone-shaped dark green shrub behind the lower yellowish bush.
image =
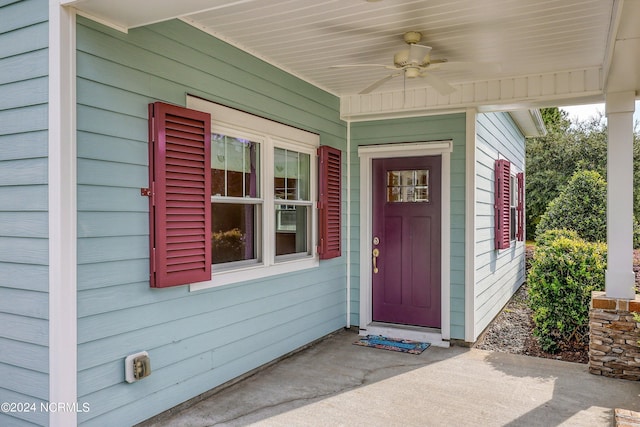
POLYGON ((538 236, 547 230, 575 230, 590 242, 607 240, 607 182, 595 171, 576 172, 540 218, 538 236))

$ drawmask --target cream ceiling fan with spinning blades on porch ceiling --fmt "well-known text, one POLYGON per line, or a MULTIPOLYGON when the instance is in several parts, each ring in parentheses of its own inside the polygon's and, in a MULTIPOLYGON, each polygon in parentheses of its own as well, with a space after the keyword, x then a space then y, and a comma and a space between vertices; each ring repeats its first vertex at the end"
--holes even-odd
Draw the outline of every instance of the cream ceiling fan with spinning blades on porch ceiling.
POLYGON ((418 31, 409 31, 403 36, 405 43, 409 45, 408 49, 401 50, 393 56, 393 66, 382 64, 351 64, 351 65, 334 65, 331 68, 349 68, 349 67, 384 67, 394 72, 373 84, 367 86, 359 92, 364 95, 372 92, 382 86, 394 77, 404 75, 404 78, 413 79, 421 77, 425 79, 427 84, 432 86, 441 95, 449 95, 456 91, 444 79, 432 74, 430 71, 436 69, 463 69, 470 68, 474 64, 468 62, 448 62, 446 59, 431 59, 431 47, 418 44, 422 39, 422 33, 418 31))

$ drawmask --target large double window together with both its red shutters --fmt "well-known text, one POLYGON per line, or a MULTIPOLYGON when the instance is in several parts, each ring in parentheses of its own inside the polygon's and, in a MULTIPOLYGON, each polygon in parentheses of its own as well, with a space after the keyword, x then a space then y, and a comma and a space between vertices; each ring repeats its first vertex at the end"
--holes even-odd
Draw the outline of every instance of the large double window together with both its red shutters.
POLYGON ((341 256, 340 150, 200 98, 187 106, 149 106, 152 287, 204 289, 341 256))

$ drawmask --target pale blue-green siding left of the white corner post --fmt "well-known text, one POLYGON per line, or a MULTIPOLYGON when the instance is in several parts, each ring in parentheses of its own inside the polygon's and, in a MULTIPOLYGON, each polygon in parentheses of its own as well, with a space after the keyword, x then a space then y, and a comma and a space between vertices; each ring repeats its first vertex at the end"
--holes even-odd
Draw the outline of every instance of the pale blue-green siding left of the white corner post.
MULTIPOLYGON (((49 395, 48 2, 0 2, 0 402, 49 395)), ((0 425, 46 425, 42 412, 0 425)))

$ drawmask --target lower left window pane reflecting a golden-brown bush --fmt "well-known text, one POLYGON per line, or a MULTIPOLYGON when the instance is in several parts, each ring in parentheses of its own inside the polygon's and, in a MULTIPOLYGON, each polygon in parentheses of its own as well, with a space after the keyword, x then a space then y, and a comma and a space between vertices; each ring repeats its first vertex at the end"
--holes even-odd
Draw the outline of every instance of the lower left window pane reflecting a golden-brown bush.
POLYGON ((258 259, 260 205, 211 204, 212 264, 258 259))

